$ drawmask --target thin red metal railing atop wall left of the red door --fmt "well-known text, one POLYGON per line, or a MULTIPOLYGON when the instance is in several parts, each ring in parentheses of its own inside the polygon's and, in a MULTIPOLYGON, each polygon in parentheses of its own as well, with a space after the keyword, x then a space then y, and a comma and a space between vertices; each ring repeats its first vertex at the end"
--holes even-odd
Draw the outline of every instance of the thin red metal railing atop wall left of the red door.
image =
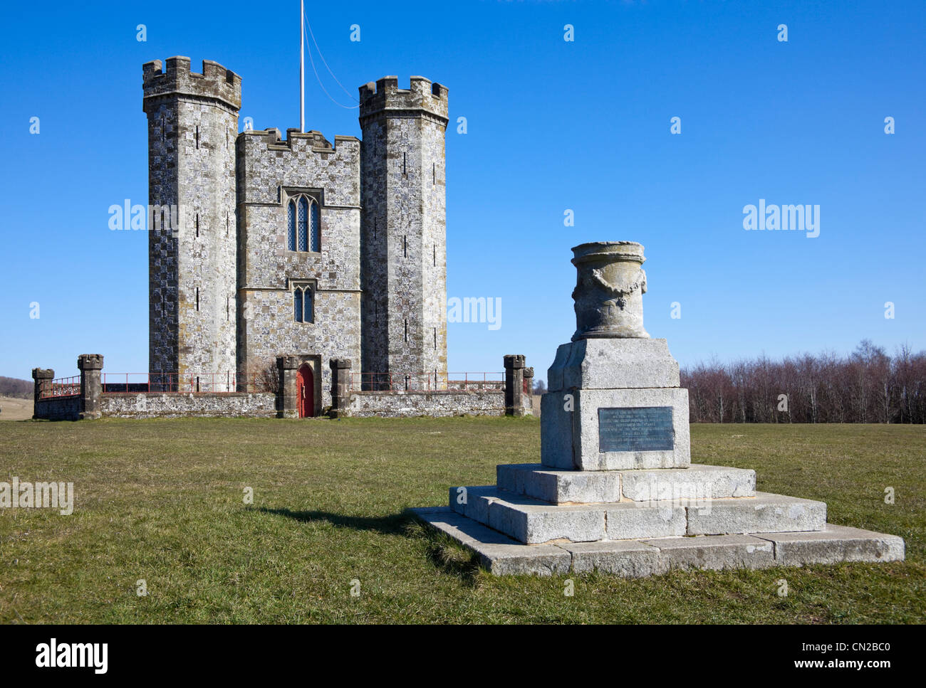
POLYGON ((104 373, 104 394, 231 394, 233 392, 276 392, 268 375, 249 373, 104 373))

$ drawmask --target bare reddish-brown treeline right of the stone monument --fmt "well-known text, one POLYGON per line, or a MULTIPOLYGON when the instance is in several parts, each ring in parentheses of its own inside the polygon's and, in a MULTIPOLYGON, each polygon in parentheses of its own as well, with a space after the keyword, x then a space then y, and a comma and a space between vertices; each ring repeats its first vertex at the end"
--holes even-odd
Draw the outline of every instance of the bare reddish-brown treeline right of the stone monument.
POLYGON ((926 351, 868 339, 848 356, 700 363, 682 387, 692 423, 926 423, 926 351))

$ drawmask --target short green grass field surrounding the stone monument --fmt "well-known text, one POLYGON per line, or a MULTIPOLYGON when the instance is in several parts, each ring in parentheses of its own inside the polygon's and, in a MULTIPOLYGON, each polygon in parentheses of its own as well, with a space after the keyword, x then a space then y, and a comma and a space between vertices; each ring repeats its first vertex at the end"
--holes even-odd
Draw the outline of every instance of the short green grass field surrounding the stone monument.
POLYGON ((0 481, 76 493, 70 516, 0 510, 0 622, 926 620, 926 427, 692 427, 695 462, 902 535, 902 563, 592 574, 564 596, 566 577, 494 578, 403 513, 539 451, 531 418, 0 422, 0 481))

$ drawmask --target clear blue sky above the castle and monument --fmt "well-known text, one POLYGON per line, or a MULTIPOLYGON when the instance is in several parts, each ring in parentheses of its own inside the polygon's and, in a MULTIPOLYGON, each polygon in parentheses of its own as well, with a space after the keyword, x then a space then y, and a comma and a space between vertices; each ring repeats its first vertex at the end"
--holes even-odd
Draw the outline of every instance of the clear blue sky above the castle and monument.
MULTIPOLYGON (((142 64, 216 60, 242 75, 241 115, 256 129, 297 127, 298 11, 295 0, 5 6, 0 375, 74 375, 90 352, 110 372, 147 369, 147 237, 107 227, 111 204, 147 203, 142 64)), ((449 326, 452 371, 497 371, 524 353, 545 377, 574 329, 569 249, 588 240, 644 244, 645 325, 682 364, 848 351, 861 338, 926 348, 921 0, 342 0, 307 12, 352 94, 387 74, 450 90, 448 296, 502 301, 497 330, 449 326), (746 231, 743 207, 760 198, 819 204, 820 236, 746 231)), ((333 104, 310 69, 307 128, 360 134, 357 110, 333 104)))

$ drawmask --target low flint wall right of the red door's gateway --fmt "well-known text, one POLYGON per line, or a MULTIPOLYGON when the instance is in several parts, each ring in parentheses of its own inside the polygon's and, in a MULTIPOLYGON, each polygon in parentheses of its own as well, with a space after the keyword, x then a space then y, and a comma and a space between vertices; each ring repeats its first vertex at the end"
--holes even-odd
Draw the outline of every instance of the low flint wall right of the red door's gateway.
POLYGON ((501 389, 355 391, 349 393, 344 411, 344 415, 357 418, 505 415, 505 392, 501 389))

